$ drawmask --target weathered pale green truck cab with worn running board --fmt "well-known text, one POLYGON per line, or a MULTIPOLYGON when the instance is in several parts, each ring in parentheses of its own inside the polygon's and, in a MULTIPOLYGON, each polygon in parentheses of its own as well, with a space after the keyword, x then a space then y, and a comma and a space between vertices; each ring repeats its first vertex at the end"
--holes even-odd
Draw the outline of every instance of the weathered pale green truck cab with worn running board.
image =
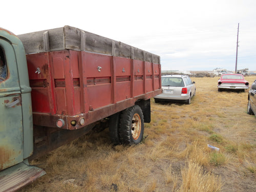
POLYGON ((25 50, 2 28, 0 56, 0 191, 14 191, 45 172, 27 160, 33 153, 33 119, 25 50))

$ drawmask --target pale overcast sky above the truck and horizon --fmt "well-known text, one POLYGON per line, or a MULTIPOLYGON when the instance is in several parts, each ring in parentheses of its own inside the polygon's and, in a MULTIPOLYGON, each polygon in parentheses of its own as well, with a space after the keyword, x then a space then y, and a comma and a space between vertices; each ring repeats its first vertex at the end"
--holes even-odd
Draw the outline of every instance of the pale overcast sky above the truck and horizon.
POLYGON ((4 1, 0 27, 23 34, 69 25, 157 54, 162 70, 256 71, 255 0, 4 1))

